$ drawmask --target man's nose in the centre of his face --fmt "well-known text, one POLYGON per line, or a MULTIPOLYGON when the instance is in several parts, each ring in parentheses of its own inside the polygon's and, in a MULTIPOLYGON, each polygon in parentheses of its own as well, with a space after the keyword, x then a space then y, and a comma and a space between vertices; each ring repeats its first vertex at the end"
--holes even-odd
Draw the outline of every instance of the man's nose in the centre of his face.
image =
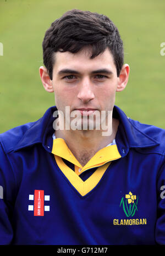
POLYGON ((84 78, 80 83, 78 98, 83 101, 84 103, 89 102, 90 100, 94 99, 94 88, 88 78, 84 78))

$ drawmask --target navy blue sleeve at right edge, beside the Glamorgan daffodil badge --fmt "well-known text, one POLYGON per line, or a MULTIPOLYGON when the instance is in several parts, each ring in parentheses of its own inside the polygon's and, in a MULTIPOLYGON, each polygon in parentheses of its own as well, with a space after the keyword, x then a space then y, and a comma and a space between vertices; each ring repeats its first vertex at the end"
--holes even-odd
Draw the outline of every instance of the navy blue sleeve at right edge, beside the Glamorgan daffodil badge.
POLYGON ((157 201, 157 222, 155 239, 158 244, 165 245, 165 161, 157 181, 158 201, 157 201))

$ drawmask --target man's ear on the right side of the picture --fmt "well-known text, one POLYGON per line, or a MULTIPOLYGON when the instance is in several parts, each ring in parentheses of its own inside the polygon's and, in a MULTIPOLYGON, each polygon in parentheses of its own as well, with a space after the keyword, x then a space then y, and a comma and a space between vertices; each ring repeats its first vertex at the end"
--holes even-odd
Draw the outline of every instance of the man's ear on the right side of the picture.
POLYGON ((119 81, 118 81, 116 91, 123 91, 124 88, 126 87, 126 85, 128 83, 129 70, 130 70, 129 65, 124 64, 122 67, 122 70, 120 71, 119 81))

